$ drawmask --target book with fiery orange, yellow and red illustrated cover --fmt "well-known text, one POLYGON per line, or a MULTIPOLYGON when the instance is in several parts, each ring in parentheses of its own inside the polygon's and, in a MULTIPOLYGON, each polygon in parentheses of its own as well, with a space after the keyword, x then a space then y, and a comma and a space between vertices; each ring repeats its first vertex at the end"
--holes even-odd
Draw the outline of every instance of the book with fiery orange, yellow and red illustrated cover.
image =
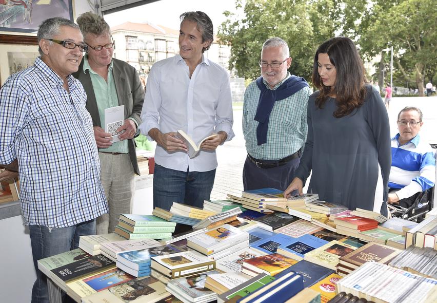
POLYGON ((294 259, 287 258, 280 254, 271 254, 243 260, 243 268, 274 276, 295 263, 297 263, 297 261, 294 259))

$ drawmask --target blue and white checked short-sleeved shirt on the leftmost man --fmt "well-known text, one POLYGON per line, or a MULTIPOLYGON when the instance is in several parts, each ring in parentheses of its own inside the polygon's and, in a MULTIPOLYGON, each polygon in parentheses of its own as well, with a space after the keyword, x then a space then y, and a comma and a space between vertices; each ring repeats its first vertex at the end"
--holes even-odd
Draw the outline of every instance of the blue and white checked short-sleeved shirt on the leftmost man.
POLYGON ((41 58, 0 90, 0 164, 18 160, 25 225, 63 228, 108 212, 82 84, 41 58))

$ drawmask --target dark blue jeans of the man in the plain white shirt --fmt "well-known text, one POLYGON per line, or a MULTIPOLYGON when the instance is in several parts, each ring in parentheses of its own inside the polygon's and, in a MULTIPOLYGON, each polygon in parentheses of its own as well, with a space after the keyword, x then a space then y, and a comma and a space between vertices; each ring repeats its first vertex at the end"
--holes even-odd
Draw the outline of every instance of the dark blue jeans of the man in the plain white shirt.
POLYGON ((214 185, 215 169, 209 172, 181 172, 155 163, 153 207, 170 210, 173 202, 203 208, 214 185))

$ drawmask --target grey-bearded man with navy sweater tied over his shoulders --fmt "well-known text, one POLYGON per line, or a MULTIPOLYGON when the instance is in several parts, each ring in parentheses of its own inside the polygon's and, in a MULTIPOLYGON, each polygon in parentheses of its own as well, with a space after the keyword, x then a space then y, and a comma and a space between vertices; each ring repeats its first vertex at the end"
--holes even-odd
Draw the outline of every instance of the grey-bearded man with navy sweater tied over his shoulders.
POLYGON ((245 191, 265 187, 284 191, 300 163, 311 92, 303 78, 287 71, 290 52, 281 38, 264 42, 259 65, 261 77, 244 93, 243 186, 245 191))

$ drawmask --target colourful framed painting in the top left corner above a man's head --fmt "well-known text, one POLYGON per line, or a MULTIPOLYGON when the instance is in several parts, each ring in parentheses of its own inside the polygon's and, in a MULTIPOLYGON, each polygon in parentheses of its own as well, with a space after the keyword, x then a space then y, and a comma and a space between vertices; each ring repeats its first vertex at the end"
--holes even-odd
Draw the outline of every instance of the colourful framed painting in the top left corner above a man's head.
POLYGON ((36 33, 48 17, 73 20, 72 0, 0 0, 0 31, 36 33))

